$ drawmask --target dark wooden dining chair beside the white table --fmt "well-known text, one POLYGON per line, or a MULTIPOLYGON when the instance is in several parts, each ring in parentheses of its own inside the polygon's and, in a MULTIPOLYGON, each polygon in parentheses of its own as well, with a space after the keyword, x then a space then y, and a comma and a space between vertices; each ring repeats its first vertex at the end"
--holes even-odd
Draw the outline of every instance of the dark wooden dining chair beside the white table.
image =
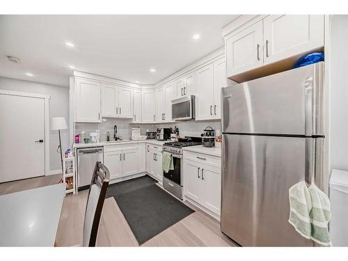
POLYGON ((84 220, 84 239, 82 246, 95 246, 99 228, 100 216, 109 187, 110 172, 100 161, 95 163, 92 181, 88 192, 84 220))

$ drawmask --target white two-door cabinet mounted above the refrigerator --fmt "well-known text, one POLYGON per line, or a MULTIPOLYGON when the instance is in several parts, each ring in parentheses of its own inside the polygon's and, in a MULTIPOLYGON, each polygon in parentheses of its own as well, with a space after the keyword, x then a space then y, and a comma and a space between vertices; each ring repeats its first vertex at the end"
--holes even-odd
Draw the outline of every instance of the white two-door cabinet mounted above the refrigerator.
POLYGON ((233 79, 262 65, 296 58, 323 46, 324 15, 263 16, 246 29, 226 35, 227 76, 233 79))

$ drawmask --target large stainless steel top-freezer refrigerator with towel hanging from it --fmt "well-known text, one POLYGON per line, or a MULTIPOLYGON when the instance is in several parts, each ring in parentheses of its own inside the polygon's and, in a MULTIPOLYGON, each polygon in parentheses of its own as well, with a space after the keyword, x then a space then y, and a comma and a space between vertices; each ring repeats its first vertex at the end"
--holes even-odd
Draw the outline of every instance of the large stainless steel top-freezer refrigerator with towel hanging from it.
POLYGON ((323 177, 324 63, 222 89, 221 231, 242 246, 313 246, 288 223, 289 189, 323 177))

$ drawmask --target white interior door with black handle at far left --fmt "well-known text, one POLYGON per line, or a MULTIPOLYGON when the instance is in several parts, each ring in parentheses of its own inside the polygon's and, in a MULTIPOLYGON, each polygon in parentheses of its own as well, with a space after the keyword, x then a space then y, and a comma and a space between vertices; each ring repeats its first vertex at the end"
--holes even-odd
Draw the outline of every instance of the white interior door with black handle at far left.
POLYGON ((0 122, 0 182, 45 175, 45 99, 0 94, 0 122))

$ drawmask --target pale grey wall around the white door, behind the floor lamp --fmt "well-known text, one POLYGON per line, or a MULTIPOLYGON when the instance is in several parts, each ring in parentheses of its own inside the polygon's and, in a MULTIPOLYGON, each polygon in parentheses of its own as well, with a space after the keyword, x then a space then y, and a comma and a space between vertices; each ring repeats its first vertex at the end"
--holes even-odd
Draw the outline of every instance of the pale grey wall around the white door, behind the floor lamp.
MULTIPOLYGON (((69 122, 69 89, 61 86, 54 86, 50 84, 39 84, 33 81, 22 81, 17 79, 10 79, 0 77, 0 89, 14 90, 24 93, 36 93, 50 95, 49 100, 49 118, 63 116, 69 122)), ((25 135, 23 129, 23 135, 25 135)), ((65 148, 69 145, 69 130, 61 131, 63 153, 65 148)), ((59 154, 56 152, 58 148, 58 133, 50 131, 49 135, 49 169, 50 171, 61 170, 61 160, 59 154)))

